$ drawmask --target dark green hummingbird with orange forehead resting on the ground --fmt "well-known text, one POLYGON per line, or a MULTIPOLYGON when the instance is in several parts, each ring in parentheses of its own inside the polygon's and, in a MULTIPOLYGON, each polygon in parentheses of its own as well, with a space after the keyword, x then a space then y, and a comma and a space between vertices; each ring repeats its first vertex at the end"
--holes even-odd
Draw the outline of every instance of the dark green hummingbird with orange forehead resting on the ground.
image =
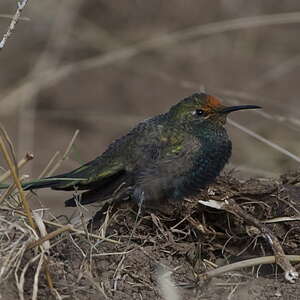
POLYGON ((94 160, 71 172, 24 183, 23 188, 82 191, 66 200, 66 206, 107 200, 116 190, 120 199, 146 206, 182 200, 212 183, 228 162, 228 114, 258 108, 225 106, 214 96, 195 93, 168 112, 140 122, 94 160))

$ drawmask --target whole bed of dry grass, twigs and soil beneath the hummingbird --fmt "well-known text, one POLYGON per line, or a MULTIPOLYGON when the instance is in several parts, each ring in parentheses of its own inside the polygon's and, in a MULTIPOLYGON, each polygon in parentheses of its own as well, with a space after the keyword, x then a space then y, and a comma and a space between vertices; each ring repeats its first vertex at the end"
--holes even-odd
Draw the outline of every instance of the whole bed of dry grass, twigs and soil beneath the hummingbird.
POLYGON ((46 226, 37 234, 20 210, 0 207, 0 295, 224 299, 233 287, 241 298, 246 282, 247 293, 261 287, 265 299, 283 287, 300 292, 300 285, 286 283, 274 264, 276 247, 268 237, 279 242, 288 262, 299 260, 299 183, 300 172, 248 181, 229 173, 180 203, 141 211, 130 202, 106 204, 93 233, 83 218, 71 226, 33 214, 37 224, 46 226), (219 203, 219 208, 206 203, 219 203))

